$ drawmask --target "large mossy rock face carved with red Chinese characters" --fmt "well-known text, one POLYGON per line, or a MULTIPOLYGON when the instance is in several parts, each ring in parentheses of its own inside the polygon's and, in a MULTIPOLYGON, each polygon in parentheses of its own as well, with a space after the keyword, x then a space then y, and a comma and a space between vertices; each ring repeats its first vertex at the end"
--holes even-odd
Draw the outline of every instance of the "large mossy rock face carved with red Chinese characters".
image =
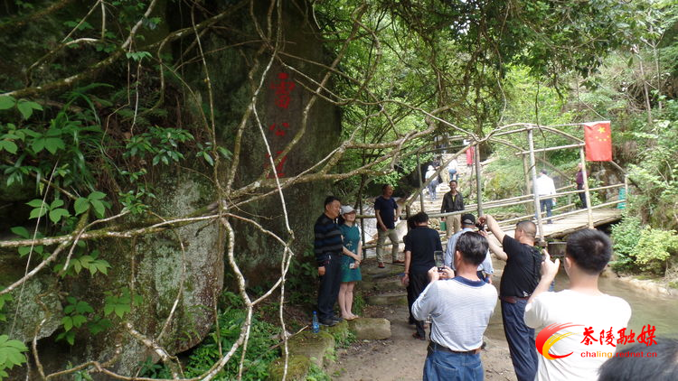
MULTIPOLYGON (((175 19, 180 13, 173 8, 174 3, 160 2, 160 4, 165 7, 163 20, 166 20, 166 25, 164 24, 163 28, 172 31, 186 27, 185 23, 190 23, 186 19, 181 21, 175 19)), ((259 14, 258 17, 261 19, 259 21, 262 21, 267 9, 256 9, 257 6, 259 5, 255 6, 254 13, 259 14)), ((301 8, 304 7, 290 3, 283 5, 283 39, 286 42, 284 50, 292 56, 303 59, 290 59, 286 64, 302 70, 312 79, 320 80, 325 72, 320 66, 310 64, 308 61, 325 62, 327 51, 324 50, 323 41, 313 30, 312 23, 297 22, 306 19, 306 14, 301 14, 306 11, 302 11, 301 8)), ((77 13, 76 10, 72 11, 77 13)), ((54 25, 61 24, 59 20, 53 21, 54 25)), ((206 60, 211 68, 214 106, 218 111, 217 139, 232 151, 233 136, 240 125, 241 116, 248 106, 253 90, 249 70, 254 67, 254 60, 257 60, 259 67, 253 72, 253 77, 257 78, 263 73, 270 56, 268 51, 257 55, 256 49, 251 47, 243 50, 224 49, 240 42, 247 45, 244 42, 260 40, 251 23, 250 10, 247 7, 229 18, 224 18, 221 23, 222 29, 236 28, 241 34, 206 33, 202 43, 205 51, 211 51, 206 55, 206 60)), ((155 38, 149 42, 157 40, 155 38)), ((20 44, 20 41, 16 43, 20 44)), ((174 48, 179 49, 179 45, 174 48)), ((175 50, 173 53, 178 57, 181 51, 175 50)), ((202 70, 202 63, 198 63, 186 65, 184 72, 185 80, 202 94, 202 99, 187 101, 188 103, 184 105, 185 110, 182 110, 184 113, 193 114, 196 119, 199 115, 198 110, 204 107, 202 102, 207 98, 202 70), (190 104, 191 102, 193 104, 190 104)), ((235 189, 252 181, 267 180, 265 176, 261 177, 261 172, 268 165, 267 144, 275 156, 295 135, 304 132, 298 136, 298 143, 287 154, 284 164, 276 168, 281 177, 303 172, 334 149, 341 134, 338 108, 322 99, 317 99, 313 107, 306 108, 313 95, 305 87, 312 88, 310 80, 303 76, 295 76, 294 70, 289 70, 278 61, 270 67, 257 103, 258 119, 250 117, 245 123, 235 189), (278 96, 272 86, 284 76, 287 76, 286 80, 297 85, 290 93, 287 107, 280 107, 278 96), (264 130, 263 136, 259 123, 264 130), (270 129, 271 125, 283 127, 281 131, 285 134, 275 134, 275 131, 270 129)), ((211 168, 193 165, 190 160, 186 162, 188 163, 182 163, 181 167, 154 167, 155 173, 149 176, 153 181, 149 186, 152 187, 157 200, 152 209, 158 216, 163 218, 185 216, 205 208, 217 199, 215 186, 210 181, 211 168)), ((224 168, 230 164, 231 162, 225 160, 224 168)), ((223 176, 224 173, 220 175, 223 176)), ((34 190, 33 185, 31 189, 34 190)), ((254 190, 251 197, 269 190, 270 187, 254 190)), ((291 228, 295 231, 296 237, 293 249, 297 254, 303 253, 312 244, 313 223, 322 213, 322 200, 328 192, 329 184, 317 181, 302 183, 284 190, 287 214, 290 216, 291 228)), ((31 199, 33 195, 24 192, 23 189, 11 191, 0 189, 0 206, 7 203, 24 204, 31 199), (17 194, 24 194, 24 198, 17 194)), ((20 218, 26 222, 26 226, 32 222, 26 220, 29 210, 22 210, 23 217, 20 218)), ((253 218, 264 228, 287 238, 282 201, 277 193, 256 202, 243 203, 234 211, 248 217, 254 216, 253 218)), ((117 223, 133 227, 139 224, 139 220, 128 218, 124 221, 118 220, 117 223)), ((256 285, 277 278, 281 246, 252 224, 233 221, 233 228, 236 259, 249 284, 256 285)), ((162 345, 170 354, 175 354, 198 344, 211 329, 214 321, 213 311, 224 288, 224 275, 230 272, 224 265, 225 239, 226 236, 220 231, 218 222, 205 221, 137 238, 89 241, 87 250, 89 252, 99 250, 99 258, 105 259, 111 265, 108 275, 97 274, 90 277, 83 272, 77 277, 66 276, 57 279, 51 270, 47 270, 44 272, 44 279, 37 277, 26 283, 21 298, 18 295, 14 296, 15 300, 23 303, 10 302, 5 306, 5 311, 14 311, 14 308, 19 306, 17 316, 21 321, 14 326, 12 338, 24 341, 32 339, 36 324, 47 317, 38 333, 38 338, 43 338, 39 341, 39 348, 43 353, 49 354, 42 358, 45 372, 63 369, 68 363, 80 364, 89 360, 105 362, 115 359, 113 365, 109 367, 111 370, 122 375, 134 376, 140 362, 149 356, 157 359, 155 352, 142 343, 139 335, 162 345), (65 296, 88 302, 101 317, 107 298, 124 296, 126 290, 138 294, 142 302, 132 305, 132 310, 125 313, 122 319, 115 313, 106 315, 111 321, 108 330, 92 334, 83 327, 77 330, 73 347, 63 342, 55 342, 55 335, 63 331, 61 319, 64 317, 63 309, 67 305, 65 296), (45 308, 33 302, 39 294, 42 294, 45 308), (45 315, 45 310, 49 311, 48 316, 45 315), (130 327, 134 331, 129 330, 130 327)), ((25 259, 17 259, 15 253, 6 255, 9 259, 5 261, 5 252, 0 253, 2 264, 0 286, 19 279, 24 273, 25 259)), ((226 279, 229 279, 228 276, 226 279)), ((8 332, 10 327, 11 324, 0 322, 0 333, 8 332)), ((320 361, 322 358, 321 356, 320 361)), ((19 374, 25 368, 14 370, 16 373, 13 376, 17 379, 26 377, 19 374)), ((29 375, 28 378, 35 377, 29 375)), ((107 379, 100 375, 99 378, 107 379)))

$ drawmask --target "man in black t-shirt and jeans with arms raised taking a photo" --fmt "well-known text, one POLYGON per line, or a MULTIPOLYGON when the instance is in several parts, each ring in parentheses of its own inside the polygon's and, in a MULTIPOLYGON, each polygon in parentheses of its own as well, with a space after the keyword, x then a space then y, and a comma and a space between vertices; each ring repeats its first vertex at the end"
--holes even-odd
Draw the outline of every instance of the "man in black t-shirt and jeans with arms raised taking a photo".
POLYGON ((487 228, 503 246, 500 249, 490 245, 494 254, 506 261, 499 284, 504 334, 515 376, 518 381, 532 381, 537 373, 537 350, 534 346, 534 330, 525 324, 523 317, 527 300, 541 279, 541 254, 534 247, 537 227, 532 221, 519 222, 513 237, 509 237, 492 216, 485 215, 479 220, 481 224, 487 224, 487 228))

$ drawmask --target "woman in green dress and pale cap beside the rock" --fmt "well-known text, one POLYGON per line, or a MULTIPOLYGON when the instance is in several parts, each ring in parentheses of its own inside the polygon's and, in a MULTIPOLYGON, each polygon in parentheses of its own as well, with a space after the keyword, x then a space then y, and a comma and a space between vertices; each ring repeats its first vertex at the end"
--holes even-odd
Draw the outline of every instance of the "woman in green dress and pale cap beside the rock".
POLYGON ((353 307, 353 286, 363 280, 360 262, 363 260, 363 243, 360 240, 360 228, 355 224, 355 210, 344 205, 341 209, 344 223, 339 225, 344 237, 344 256, 342 256, 342 283, 339 286, 339 308, 347 321, 358 318, 351 311, 353 307))

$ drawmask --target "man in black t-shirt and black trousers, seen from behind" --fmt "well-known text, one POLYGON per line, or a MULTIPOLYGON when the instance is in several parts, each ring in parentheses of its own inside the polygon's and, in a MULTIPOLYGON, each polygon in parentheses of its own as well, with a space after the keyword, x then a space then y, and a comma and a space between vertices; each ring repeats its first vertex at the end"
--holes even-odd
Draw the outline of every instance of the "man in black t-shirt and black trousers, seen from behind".
MULTIPOLYGON (((408 305, 412 316, 412 304, 428 285, 428 270, 436 265, 433 252, 442 251, 438 231, 428 228, 428 215, 419 212, 413 217, 416 228, 410 230, 405 239, 405 274, 402 283, 408 287, 408 305)), ((426 339, 424 322, 414 320, 417 331, 412 335, 415 339, 426 339)))

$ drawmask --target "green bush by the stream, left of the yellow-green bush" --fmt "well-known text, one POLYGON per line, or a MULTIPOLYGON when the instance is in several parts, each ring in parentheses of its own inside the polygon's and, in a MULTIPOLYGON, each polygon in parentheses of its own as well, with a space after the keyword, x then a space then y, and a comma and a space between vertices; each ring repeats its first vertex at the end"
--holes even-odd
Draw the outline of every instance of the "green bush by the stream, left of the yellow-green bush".
POLYGON ((626 216, 612 227, 612 246, 615 260, 610 265, 617 271, 634 270, 636 245, 640 240, 642 223, 637 216, 626 216))

